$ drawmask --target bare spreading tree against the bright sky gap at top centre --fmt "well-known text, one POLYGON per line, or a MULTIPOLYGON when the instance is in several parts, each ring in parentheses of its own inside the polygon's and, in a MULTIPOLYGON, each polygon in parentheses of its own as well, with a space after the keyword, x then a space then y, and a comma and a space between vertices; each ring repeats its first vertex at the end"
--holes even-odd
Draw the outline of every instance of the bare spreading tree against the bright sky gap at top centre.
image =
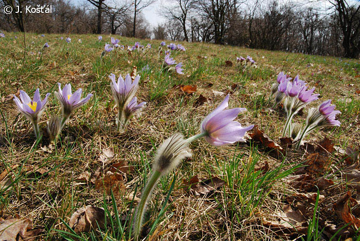
POLYGON ((173 0, 167 1, 167 4, 167 6, 161 9, 160 14, 165 16, 168 20, 178 21, 183 27, 185 41, 189 42, 186 26, 188 15, 194 8, 194 0, 173 0))

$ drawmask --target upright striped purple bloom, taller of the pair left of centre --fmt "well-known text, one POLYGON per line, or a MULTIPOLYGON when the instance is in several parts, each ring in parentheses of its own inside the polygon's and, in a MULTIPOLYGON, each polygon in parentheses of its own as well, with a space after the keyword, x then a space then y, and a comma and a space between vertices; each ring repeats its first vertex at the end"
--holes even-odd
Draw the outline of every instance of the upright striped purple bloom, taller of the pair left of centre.
POLYGON ((115 75, 113 73, 109 76, 111 83, 111 91, 113 93, 113 98, 117 106, 119 107, 119 110, 121 113, 124 106, 129 103, 129 101, 132 100, 132 98, 135 96, 135 92, 137 90, 138 83, 140 80, 140 76, 137 75, 135 77, 134 82, 131 80, 131 77, 128 73, 128 75, 125 77, 125 80, 122 79, 121 75, 119 76, 117 83, 115 80, 115 75))

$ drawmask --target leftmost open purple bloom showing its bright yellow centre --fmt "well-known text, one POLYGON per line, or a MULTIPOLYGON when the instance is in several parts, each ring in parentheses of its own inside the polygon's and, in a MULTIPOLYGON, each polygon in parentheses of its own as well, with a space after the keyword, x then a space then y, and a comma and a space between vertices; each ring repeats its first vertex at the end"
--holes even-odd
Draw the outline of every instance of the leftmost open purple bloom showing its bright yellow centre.
POLYGON ((20 90, 20 99, 14 97, 14 102, 17 105, 17 109, 22 113, 32 124, 38 123, 45 110, 47 104, 47 98, 50 93, 47 93, 44 100, 40 99, 39 89, 35 90, 34 97, 31 100, 25 91, 20 90))

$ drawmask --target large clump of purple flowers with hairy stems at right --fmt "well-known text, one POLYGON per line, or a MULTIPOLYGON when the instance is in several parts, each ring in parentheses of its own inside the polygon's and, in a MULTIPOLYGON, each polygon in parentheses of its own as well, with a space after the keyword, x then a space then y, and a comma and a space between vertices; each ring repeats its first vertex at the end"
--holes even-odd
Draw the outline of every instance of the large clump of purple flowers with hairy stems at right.
POLYGON ((293 117, 309 103, 318 100, 319 94, 314 94, 315 88, 309 89, 308 84, 296 76, 287 78, 285 73, 280 72, 277 82, 272 85, 271 97, 275 95, 273 107, 284 99, 284 109, 286 112, 286 122, 282 136, 289 136, 297 142, 296 147, 302 144, 302 140, 315 128, 324 126, 340 126, 340 122, 335 119, 338 110, 335 105, 331 105, 331 100, 322 102, 317 108, 310 108, 304 128, 301 124, 292 123, 293 117))

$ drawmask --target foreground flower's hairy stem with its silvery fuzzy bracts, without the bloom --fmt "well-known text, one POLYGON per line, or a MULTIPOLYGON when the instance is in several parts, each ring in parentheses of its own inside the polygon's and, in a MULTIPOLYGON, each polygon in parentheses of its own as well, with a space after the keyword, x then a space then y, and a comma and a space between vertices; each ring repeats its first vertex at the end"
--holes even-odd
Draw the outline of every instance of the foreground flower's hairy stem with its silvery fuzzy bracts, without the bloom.
POLYGON ((139 240, 143 215, 156 183, 161 176, 173 170, 182 159, 190 156, 191 150, 189 149, 189 142, 187 142, 181 134, 172 135, 160 145, 155 155, 153 173, 142 191, 140 202, 135 210, 133 226, 134 240, 139 240))

